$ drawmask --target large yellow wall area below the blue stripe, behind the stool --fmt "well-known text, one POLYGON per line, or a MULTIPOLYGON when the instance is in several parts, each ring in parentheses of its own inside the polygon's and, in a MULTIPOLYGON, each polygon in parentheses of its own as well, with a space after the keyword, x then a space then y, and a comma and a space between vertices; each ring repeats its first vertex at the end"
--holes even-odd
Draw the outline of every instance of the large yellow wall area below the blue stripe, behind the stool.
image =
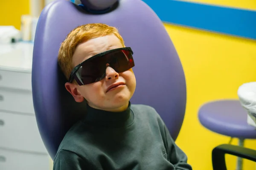
MULTIPOLYGON (((244 82, 256 81, 256 41, 165 24, 183 64, 187 83, 187 108, 177 144, 186 152, 195 170, 211 170, 211 151, 229 142, 229 137, 213 133, 198 120, 198 108, 214 99, 237 99, 244 82)), ((232 144, 237 144, 234 140, 232 144)), ((245 146, 256 149, 256 140, 245 146)), ((227 156, 227 166, 235 170, 236 157, 227 156)), ((244 170, 254 170, 245 161, 244 170)))

